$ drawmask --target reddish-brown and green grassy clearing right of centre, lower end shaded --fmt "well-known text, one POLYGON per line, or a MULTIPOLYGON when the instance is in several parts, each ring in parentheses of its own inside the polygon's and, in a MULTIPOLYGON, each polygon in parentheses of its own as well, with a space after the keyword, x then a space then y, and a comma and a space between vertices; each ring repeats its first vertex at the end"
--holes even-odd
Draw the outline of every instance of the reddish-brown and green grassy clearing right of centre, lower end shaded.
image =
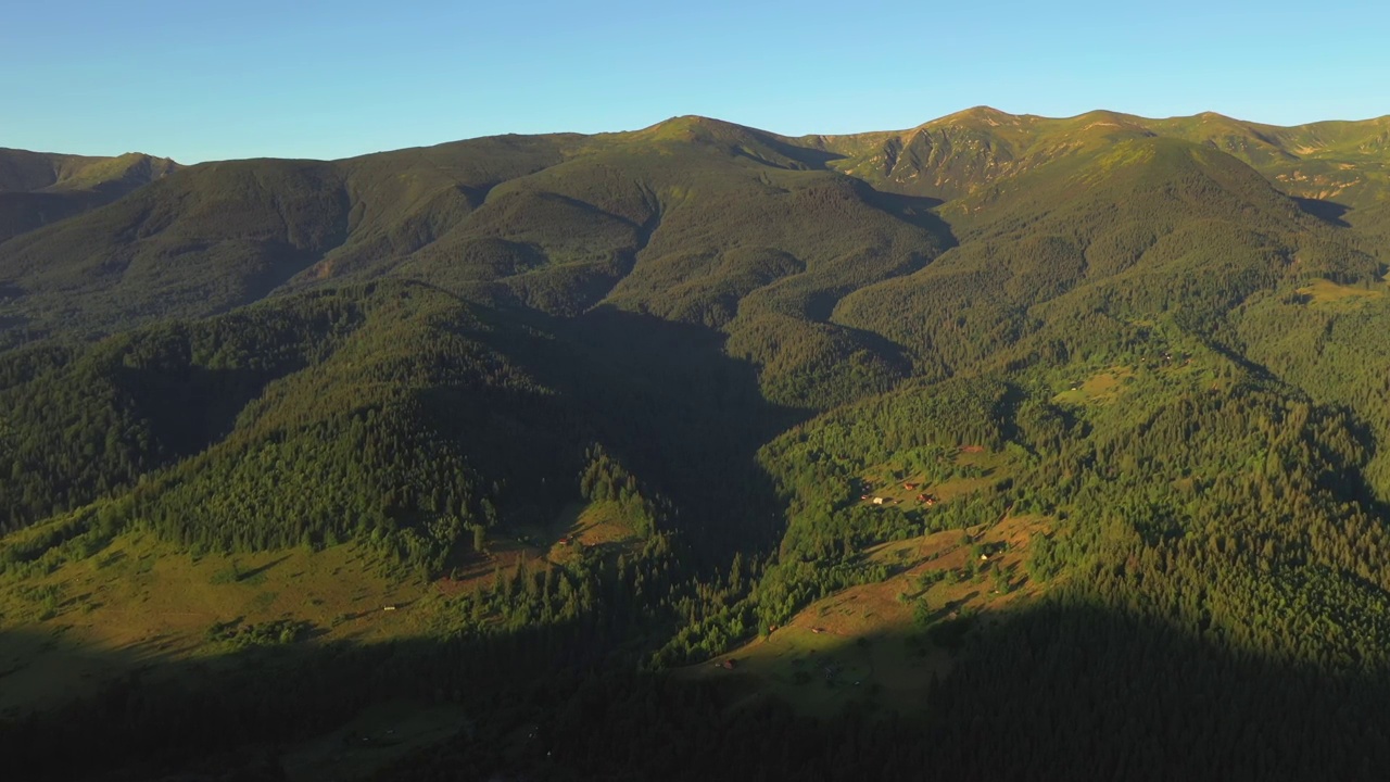
POLYGON ((748 699, 778 697, 816 717, 851 703, 920 711, 933 676, 949 671, 959 633, 997 622, 1004 611, 1037 596, 1040 587, 1029 582, 1024 564, 1033 536, 1048 529, 1042 518, 1009 516, 965 533, 874 547, 865 555, 894 566, 897 575, 820 600, 767 637, 681 675, 728 679, 746 687, 748 699), (987 559, 979 559, 980 548, 990 551, 987 559), (1006 576, 1008 591, 998 589, 997 572, 1006 576), (721 667, 728 658, 733 669, 721 667))

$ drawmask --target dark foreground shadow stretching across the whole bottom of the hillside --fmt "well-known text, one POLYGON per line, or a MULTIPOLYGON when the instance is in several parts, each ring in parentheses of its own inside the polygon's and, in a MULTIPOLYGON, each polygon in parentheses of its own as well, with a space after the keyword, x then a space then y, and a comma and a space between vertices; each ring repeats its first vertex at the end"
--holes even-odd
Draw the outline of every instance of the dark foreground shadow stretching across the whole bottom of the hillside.
MULTIPOLYGON (((1320 673, 1232 651, 1158 619, 1034 607, 944 628, 958 647, 923 717, 883 701, 891 671, 840 680, 840 657, 930 630, 844 639, 798 687, 842 693, 830 719, 749 697, 741 671, 706 682, 632 673, 602 623, 488 640, 292 644, 168 664, 101 694, 0 722, 33 779, 225 772, 274 779, 274 756, 399 699, 456 703, 456 737, 374 779, 1375 779, 1390 763, 1390 679, 1320 673), (949 630, 949 632, 947 632, 949 630), (821 668, 827 672, 820 675, 821 668), (881 679, 881 680, 880 680, 881 679), (853 687, 853 689, 851 689, 853 687), (81 746, 81 753, 68 751, 81 746), (710 747, 719 747, 717 753, 710 747), (249 761, 247 758, 256 758, 249 761)), ((856 673, 858 675, 858 673, 856 673)))

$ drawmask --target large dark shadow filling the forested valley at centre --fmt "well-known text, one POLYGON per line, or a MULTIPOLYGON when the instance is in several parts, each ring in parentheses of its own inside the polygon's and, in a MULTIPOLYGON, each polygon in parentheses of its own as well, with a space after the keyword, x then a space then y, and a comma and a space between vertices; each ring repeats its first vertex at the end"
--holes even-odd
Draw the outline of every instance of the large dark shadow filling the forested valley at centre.
POLYGON ((525 328, 478 338, 570 399, 582 436, 670 497, 698 550, 727 562, 733 550, 776 545, 781 504, 756 454, 809 413, 769 404, 723 334, 613 308, 506 317, 525 328))

